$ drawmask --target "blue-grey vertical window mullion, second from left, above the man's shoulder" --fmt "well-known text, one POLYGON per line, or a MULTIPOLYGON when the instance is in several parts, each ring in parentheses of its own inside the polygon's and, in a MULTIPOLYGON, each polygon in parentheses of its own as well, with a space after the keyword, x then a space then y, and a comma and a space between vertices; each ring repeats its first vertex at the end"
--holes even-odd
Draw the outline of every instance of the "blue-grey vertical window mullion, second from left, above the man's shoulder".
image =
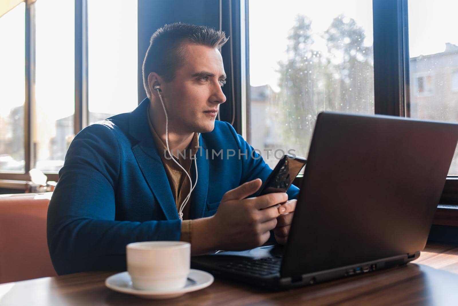
POLYGON ((87 79, 87 0, 75 0, 75 134, 87 126, 87 79))

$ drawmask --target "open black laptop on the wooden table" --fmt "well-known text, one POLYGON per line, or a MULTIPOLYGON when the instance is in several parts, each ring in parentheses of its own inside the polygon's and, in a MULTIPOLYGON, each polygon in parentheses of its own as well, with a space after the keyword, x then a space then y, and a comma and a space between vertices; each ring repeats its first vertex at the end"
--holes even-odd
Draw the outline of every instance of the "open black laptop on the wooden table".
POLYGON ((458 142, 458 124, 318 114, 286 245, 191 257, 191 267, 289 289, 420 256, 458 142))

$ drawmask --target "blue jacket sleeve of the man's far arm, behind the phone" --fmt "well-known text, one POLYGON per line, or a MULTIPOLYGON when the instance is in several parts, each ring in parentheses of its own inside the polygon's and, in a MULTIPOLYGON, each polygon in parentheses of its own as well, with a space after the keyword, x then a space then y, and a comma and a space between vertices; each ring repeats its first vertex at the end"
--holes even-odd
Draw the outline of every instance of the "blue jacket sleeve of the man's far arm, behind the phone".
MULTIPOLYGON (((240 160, 242 161, 242 177, 240 180, 240 185, 249 182, 256 178, 261 178, 262 182, 264 182, 269 174, 272 172, 272 169, 266 164, 266 162, 262 159, 262 156, 254 150, 254 148, 249 145, 242 136, 237 134, 228 122, 226 122, 231 130, 232 134, 234 135, 234 139, 237 142, 237 145, 240 149, 240 160), (242 155, 245 154, 246 155, 242 155)), ((295 185, 291 184, 288 191, 288 199, 297 199, 299 195, 299 188, 295 185)))

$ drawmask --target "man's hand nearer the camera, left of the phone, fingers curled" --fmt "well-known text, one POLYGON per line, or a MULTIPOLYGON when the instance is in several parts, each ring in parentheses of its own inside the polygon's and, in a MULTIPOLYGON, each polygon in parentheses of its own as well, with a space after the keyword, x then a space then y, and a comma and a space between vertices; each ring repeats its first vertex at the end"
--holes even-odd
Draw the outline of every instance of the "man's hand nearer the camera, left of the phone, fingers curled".
POLYGON ((218 211, 209 217, 207 239, 214 239, 217 249, 247 250, 269 239, 269 231, 275 228, 280 215, 275 205, 288 200, 288 195, 278 192, 245 199, 261 185, 261 179, 257 178, 224 194, 218 211))

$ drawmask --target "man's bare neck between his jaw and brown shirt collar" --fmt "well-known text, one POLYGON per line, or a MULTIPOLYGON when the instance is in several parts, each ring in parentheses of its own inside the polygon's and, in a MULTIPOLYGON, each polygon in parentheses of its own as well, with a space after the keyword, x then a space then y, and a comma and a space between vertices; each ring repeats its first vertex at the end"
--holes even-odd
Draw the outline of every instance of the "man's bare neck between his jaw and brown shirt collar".
MULTIPOLYGON (((153 107, 150 105, 148 108, 148 116, 151 120, 151 124, 153 125, 154 131, 158 134, 159 138, 162 140, 164 145, 165 142, 165 114, 162 105, 160 109, 158 107, 153 107)), ((194 132, 190 133, 183 133, 180 132, 173 123, 173 119, 169 117, 169 149, 172 151, 172 154, 175 156, 177 152, 183 152, 188 148, 191 144, 192 137, 194 136, 194 132)))

